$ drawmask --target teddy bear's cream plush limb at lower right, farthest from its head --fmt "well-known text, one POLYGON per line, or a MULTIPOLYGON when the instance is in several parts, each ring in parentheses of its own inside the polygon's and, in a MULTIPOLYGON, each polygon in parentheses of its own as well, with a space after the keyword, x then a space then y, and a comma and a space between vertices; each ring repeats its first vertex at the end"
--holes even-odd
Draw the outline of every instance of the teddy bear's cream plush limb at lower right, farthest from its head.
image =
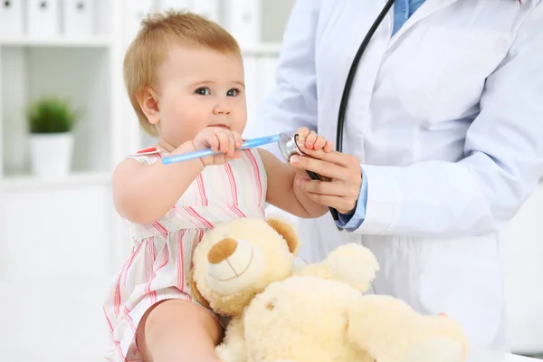
POLYGON ((444 316, 423 316, 403 300, 361 296, 347 309, 347 338, 380 362, 463 362, 462 327, 444 316))

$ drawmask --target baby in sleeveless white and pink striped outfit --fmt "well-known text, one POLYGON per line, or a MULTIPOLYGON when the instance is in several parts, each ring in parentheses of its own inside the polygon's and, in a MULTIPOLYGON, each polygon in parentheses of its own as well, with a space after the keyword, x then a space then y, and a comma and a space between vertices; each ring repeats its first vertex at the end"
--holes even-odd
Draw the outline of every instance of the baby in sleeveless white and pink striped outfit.
MULTIPOLYGON (((112 362, 217 361, 223 326, 190 297, 195 245, 214 225, 264 217, 266 203, 300 217, 328 208, 297 186, 309 178, 262 149, 237 150, 246 123, 238 43, 195 14, 146 19, 124 62, 129 99, 156 147, 129 155, 113 198, 134 246, 104 305, 112 362), (220 154, 164 165, 161 157, 213 148, 220 154)), ((254 90, 250 90, 254 91, 254 90)), ((308 149, 333 146, 299 129, 308 149)))

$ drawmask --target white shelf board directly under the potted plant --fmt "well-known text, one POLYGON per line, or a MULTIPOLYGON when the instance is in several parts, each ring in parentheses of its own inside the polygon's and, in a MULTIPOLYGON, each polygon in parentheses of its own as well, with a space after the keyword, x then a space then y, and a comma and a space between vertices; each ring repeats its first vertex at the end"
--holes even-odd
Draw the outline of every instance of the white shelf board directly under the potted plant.
POLYGON ((35 192, 52 189, 66 189, 80 186, 109 185, 110 172, 73 173, 61 178, 41 178, 31 175, 5 176, 1 182, 5 193, 35 192))

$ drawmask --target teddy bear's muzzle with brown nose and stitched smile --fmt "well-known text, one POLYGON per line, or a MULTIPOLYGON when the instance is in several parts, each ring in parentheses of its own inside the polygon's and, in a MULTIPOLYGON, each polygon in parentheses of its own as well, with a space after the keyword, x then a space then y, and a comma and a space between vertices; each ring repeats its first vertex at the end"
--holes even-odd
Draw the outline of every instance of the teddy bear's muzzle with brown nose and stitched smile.
POLYGON ((251 286, 262 275, 262 250, 244 240, 225 238, 207 252, 207 283, 219 294, 231 295, 251 286))

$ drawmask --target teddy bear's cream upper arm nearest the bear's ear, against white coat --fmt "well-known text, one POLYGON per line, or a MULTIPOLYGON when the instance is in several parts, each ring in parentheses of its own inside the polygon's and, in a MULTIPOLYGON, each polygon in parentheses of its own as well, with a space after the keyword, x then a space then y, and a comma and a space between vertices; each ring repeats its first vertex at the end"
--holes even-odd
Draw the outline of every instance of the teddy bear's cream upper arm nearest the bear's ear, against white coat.
POLYGON ((357 243, 339 246, 323 262, 297 267, 294 275, 343 281, 359 291, 367 291, 379 265, 372 252, 357 243))

